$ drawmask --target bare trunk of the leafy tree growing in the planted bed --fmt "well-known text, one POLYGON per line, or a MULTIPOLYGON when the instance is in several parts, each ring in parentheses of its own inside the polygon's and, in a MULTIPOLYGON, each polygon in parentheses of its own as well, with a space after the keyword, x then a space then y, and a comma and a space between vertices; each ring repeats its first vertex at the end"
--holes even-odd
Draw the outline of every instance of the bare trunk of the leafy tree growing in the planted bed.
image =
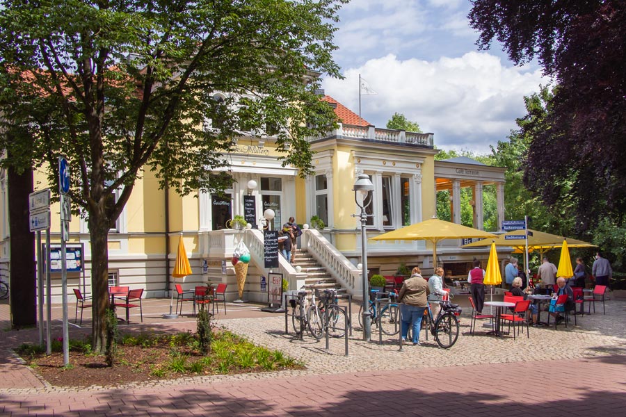
POLYGON ((104 353, 106 347, 106 310, 109 309, 109 220, 104 210, 90 213, 91 286, 93 291, 92 346, 104 353))

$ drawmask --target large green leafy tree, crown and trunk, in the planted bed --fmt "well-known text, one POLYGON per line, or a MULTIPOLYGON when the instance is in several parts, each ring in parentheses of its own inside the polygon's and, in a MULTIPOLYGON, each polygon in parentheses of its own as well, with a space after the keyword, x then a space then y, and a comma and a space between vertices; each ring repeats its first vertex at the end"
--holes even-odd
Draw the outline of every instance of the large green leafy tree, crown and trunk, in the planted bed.
POLYGON ((56 158, 70 161, 92 247, 95 350, 106 345, 109 229, 143 170, 183 195, 219 190, 227 179, 209 173, 246 132, 272 133, 284 164, 312 171, 306 138, 335 122, 314 91, 319 74, 339 76, 331 54, 342 3, 3 2, 2 127, 21 140, 3 135, 0 147, 15 155, 7 163, 47 170, 53 190, 56 158))

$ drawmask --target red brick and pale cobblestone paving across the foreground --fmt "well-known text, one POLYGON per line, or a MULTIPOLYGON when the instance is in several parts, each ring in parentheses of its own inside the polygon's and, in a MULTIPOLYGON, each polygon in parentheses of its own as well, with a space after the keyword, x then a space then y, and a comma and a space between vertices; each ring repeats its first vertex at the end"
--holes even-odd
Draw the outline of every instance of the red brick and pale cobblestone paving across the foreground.
MULTIPOLYGON (((431 336, 399 352, 355 332, 348 357, 337 339, 326 352, 323 341, 284 335, 282 316, 253 311, 229 305, 218 324, 305 360, 307 370, 63 389, 10 353, 35 331, 2 332, 0 416, 626 416, 626 302, 607 302, 606 316, 584 316, 577 327, 533 328, 515 341, 470 336, 464 317, 450 350, 431 336)), ((147 328, 195 327, 144 315, 147 328)), ((88 329, 72 329, 80 332, 88 329)))

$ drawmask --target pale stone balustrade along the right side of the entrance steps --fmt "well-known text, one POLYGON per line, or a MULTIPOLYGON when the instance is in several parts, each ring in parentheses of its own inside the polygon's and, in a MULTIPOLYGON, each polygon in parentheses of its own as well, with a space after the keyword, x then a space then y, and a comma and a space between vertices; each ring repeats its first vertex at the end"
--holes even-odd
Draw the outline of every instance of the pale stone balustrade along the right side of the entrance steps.
POLYGON ((328 274, 341 284, 348 293, 362 293, 361 271, 342 252, 339 252, 319 231, 303 230, 301 243, 314 259, 326 268, 328 274))

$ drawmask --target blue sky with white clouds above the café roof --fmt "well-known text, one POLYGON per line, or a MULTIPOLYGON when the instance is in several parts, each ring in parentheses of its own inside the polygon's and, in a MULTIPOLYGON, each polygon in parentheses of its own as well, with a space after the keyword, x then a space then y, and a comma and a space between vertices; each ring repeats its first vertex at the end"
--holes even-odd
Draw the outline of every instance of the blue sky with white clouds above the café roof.
POLYGON ((339 12, 334 58, 344 80, 326 95, 359 111, 359 74, 376 95, 361 117, 385 127, 394 113, 434 133, 438 149, 487 154, 526 114, 524 95, 547 85, 538 65, 516 67, 492 44, 476 47, 469 0, 352 0, 339 12))

